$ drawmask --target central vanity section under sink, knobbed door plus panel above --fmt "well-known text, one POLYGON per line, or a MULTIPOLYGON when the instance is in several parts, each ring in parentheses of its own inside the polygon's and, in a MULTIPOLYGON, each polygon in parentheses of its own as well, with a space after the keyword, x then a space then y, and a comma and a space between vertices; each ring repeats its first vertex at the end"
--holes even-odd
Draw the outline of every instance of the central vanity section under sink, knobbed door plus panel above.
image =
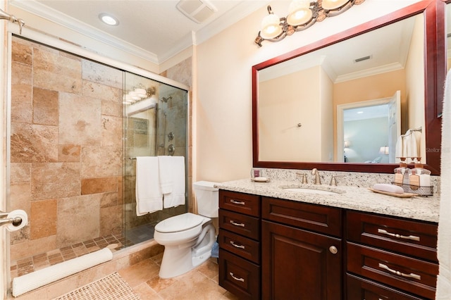
POLYGON ((340 236, 326 226, 340 229, 340 209, 268 197, 261 209, 262 298, 341 299, 342 240, 319 233, 340 236))

